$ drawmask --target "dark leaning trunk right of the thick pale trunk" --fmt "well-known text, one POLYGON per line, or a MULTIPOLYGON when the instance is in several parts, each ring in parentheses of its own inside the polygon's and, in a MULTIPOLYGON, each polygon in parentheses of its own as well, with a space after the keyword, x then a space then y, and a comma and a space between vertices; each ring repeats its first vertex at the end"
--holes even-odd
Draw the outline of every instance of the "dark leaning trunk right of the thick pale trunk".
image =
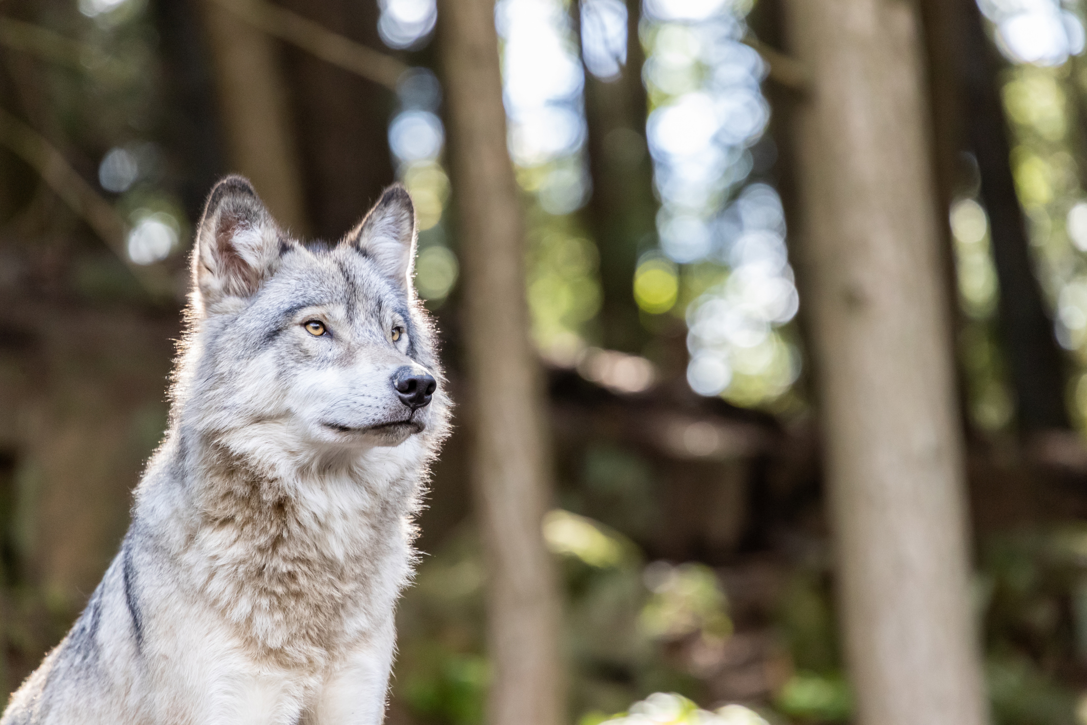
POLYGON ((1064 403, 1062 353, 1034 272, 1025 220, 1011 171, 1011 149, 1000 101, 1000 60, 985 35, 974 0, 924 0, 933 92, 934 151, 941 232, 954 290, 951 202, 964 179, 962 154, 977 161, 979 196, 989 213, 994 262, 1000 287, 998 328, 1009 362, 1022 433, 1070 427, 1064 403))

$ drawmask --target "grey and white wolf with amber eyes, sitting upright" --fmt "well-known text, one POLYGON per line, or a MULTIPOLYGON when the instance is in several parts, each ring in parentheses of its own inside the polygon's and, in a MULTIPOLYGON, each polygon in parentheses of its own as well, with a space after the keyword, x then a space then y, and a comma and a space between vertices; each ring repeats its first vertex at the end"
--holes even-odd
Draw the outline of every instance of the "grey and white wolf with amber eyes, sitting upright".
POLYGON ((415 238, 400 186, 337 243, 213 188, 132 525, 0 725, 382 722, 451 405, 415 238))

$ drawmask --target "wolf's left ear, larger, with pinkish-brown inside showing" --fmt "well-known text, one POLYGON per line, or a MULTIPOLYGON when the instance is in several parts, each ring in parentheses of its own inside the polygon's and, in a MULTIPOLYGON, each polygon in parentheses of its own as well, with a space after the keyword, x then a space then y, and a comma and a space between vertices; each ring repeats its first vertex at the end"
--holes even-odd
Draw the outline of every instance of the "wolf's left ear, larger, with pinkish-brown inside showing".
POLYGON ((192 278, 201 300, 249 297, 279 266, 279 228, 253 185, 227 176, 211 190, 197 227, 192 278))

